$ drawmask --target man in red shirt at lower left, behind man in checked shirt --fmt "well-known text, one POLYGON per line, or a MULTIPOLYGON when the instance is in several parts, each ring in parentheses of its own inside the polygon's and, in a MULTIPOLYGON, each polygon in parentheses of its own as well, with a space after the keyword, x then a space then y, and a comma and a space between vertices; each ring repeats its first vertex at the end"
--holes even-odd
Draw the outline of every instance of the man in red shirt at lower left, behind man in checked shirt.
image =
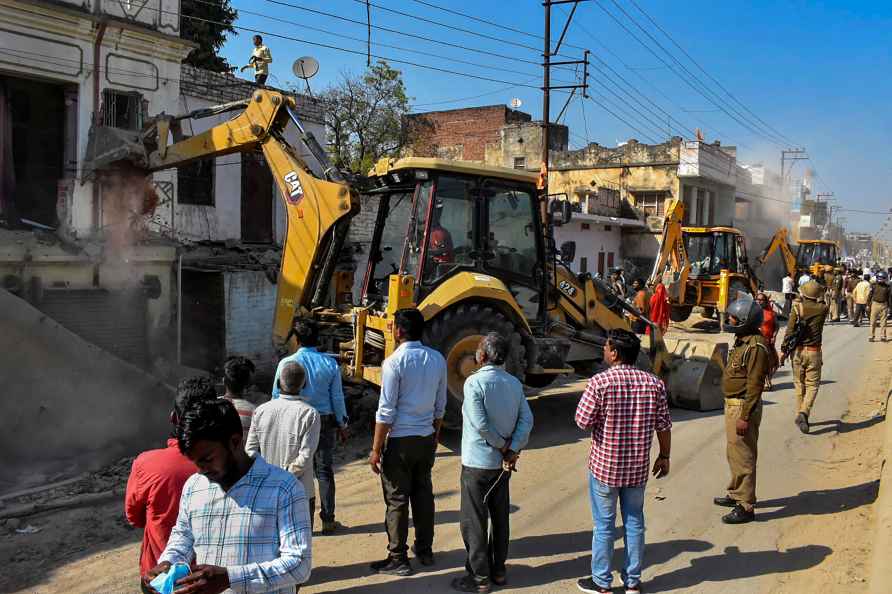
POLYGON ((183 411, 192 403, 215 398, 214 384, 208 378, 193 377, 181 381, 170 411, 174 428, 167 447, 143 452, 133 461, 124 496, 124 513, 131 524, 144 529, 140 575, 158 564, 158 556, 167 546, 170 531, 177 521, 183 485, 197 472, 195 465, 177 447, 176 426, 183 411))

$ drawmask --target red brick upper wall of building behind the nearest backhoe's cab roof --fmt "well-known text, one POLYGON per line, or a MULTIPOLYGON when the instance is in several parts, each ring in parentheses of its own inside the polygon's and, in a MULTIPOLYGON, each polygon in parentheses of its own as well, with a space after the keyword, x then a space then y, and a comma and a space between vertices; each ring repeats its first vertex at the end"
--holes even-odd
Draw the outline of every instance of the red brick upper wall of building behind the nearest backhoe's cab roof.
POLYGON ((414 143, 413 152, 418 156, 482 163, 487 147, 492 152, 492 147, 501 146, 502 126, 530 120, 532 117, 522 111, 490 105, 412 114, 408 125, 423 136, 414 143))

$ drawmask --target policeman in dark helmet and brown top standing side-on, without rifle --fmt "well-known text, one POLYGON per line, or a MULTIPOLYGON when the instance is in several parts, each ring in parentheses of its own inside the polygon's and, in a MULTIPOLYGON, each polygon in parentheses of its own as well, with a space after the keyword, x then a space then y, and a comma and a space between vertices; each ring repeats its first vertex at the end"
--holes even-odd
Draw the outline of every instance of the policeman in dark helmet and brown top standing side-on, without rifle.
POLYGON ((759 332, 762 307, 752 298, 745 297, 728 306, 727 316, 725 328, 737 335, 722 376, 731 482, 728 494, 716 497, 714 503, 734 508, 722 522, 745 524, 756 517, 756 459, 759 425, 762 423, 762 390, 771 363, 768 347, 759 332))

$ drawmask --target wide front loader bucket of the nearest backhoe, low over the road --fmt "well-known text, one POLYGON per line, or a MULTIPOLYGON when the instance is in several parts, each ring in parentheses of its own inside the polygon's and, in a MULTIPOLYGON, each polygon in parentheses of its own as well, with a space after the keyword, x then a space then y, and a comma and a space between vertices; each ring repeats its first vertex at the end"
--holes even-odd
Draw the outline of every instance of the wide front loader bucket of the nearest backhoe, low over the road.
POLYGON ((722 373, 728 345, 709 340, 665 337, 667 359, 663 378, 674 406, 717 410, 724 406, 722 373))

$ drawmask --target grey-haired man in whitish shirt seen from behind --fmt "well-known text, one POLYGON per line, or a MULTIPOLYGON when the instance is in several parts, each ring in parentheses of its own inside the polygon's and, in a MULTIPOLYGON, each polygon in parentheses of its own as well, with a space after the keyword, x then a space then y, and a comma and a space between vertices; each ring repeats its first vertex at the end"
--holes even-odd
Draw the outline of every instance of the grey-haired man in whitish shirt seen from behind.
POLYGON ((316 508, 313 456, 319 445, 322 422, 316 409, 299 396, 305 381, 306 371, 300 363, 282 366, 279 398, 264 402, 254 411, 245 451, 252 457, 259 453, 270 464, 293 474, 303 485, 309 500, 312 529, 316 508))

